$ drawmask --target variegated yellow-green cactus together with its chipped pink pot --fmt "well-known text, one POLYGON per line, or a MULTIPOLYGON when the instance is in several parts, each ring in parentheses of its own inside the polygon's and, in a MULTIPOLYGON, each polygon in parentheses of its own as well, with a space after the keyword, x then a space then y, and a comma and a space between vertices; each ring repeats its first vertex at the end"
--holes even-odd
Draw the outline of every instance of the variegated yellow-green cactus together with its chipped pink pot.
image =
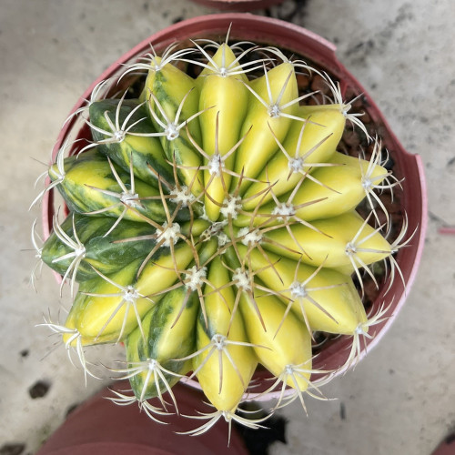
POLYGON ((258 428, 244 400, 324 398, 402 305, 425 227, 419 159, 333 46, 251 15, 173 25, 106 70, 41 198, 39 257, 74 295, 45 325, 86 374, 86 348, 124 343, 114 400, 152 420, 178 381, 201 388, 189 434, 258 428))

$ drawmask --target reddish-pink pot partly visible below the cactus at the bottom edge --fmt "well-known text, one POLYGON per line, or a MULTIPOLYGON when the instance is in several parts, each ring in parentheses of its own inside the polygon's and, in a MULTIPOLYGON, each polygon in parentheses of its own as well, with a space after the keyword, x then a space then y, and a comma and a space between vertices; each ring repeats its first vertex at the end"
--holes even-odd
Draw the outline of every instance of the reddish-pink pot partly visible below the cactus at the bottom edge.
MULTIPOLYGON (((115 389, 129 389, 129 383, 119 382, 115 389)), ((202 392, 181 384, 174 391, 181 414, 210 411, 202 403, 202 392)), ((248 455, 235 427, 227 447, 224 420, 207 433, 188 438, 177 432, 194 429, 200 420, 174 414, 163 417, 169 424, 161 425, 150 420, 137 406, 114 406, 106 397, 114 394, 103 389, 74 410, 36 455, 248 455)))

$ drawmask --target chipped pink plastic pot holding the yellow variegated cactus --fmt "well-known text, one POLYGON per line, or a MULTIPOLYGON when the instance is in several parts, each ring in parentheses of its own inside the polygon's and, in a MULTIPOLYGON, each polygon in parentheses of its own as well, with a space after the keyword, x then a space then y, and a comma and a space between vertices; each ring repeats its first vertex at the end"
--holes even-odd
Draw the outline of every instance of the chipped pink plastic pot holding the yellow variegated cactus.
MULTIPOLYGON (((400 279, 395 279, 389 292, 382 289, 379 292, 378 298, 373 303, 373 314, 379 310, 384 303, 385 307, 389 305, 388 312, 385 316, 388 319, 374 327, 375 337, 366 339, 365 345, 362 343, 362 358, 367 349, 372 348, 379 339, 389 329, 394 317, 402 307, 410 286, 415 278, 417 268, 420 263, 422 253, 425 229, 427 224, 427 193, 425 187, 425 179, 423 175, 423 167, 420 157, 410 155, 403 147, 400 146, 396 136, 390 130, 389 125, 384 117, 379 112, 378 107, 368 95, 366 90, 360 86, 354 76, 349 74, 349 71, 339 63, 335 54, 335 46, 330 44, 319 35, 315 35, 308 30, 299 27, 298 25, 288 24, 286 22, 272 19, 268 17, 247 15, 247 14, 224 14, 224 15, 206 15, 189 19, 184 22, 171 25, 166 29, 151 35, 145 41, 136 45, 125 56, 119 58, 116 63, 110 66, 98 79, 89 86, 86 92, 79 98, 72 112, 75 112, 81 106, 84 106, 86 99, 89 98, 94 86, 101 80, 108 77, 116 76, 123 70, 122 64, 132 63, 136 61, 138 56, 142 56, 149 50, 149 45, 155 46, 157 51, 164 49, 167 45, 177 41, 186 40, 187 38, 208 37, 212 39, 223 39, 226 35, 227 28, 231 25, 230 36, 232 39, 249 40, 264 45, 275 45, 281 48, 288 49, 298 56, 311 60, 317 66, 323 68, 331 76, 338 79, 343 93, 349 93, 350 96, 364 94, 365 110, 382 137, 382 142, 388 148, 390 156, 395 161, 395 174, 399 178, 404 178, 402 183, 403 196, 401 197, 402 211, 409 218, 409 232, 416 230, 410 246, 399 250, 397 261, 401 268, 406 289, 403 288, 400 279)), ((88 135, 86 126, 77 126, 76 118, 72 118, 62 129, 58 136, 54 154, 59 147, 62 146, 69 133, 76 128, 76 136, 88 135), (80 128, 80 129, 77 129, 80 128)), ((45 237, 48 236, 52 226, 52 215, 54 213, 52 205, 52 193, 49 192, 45 196, 44 207, 44 227, 45 237)), ((339 369, 340 366, 346 363, 349 356, 349 347, 351 339, 349 337, 339 337, 328 342, 324 349, 321 350, 317 359, 314 362, 315 369, 339 369)), ((258 378, 262 374, 258 373, 258 378)), ((197 386, 197 382, 193 382, 197 386)), ((260 390, 260 388, 259 388, 260 390)), ((248 395, 248 399, 254 399, 257 394, 248 395)), ((259 399, 269 399, 270 395, 260 397, 259 399)))

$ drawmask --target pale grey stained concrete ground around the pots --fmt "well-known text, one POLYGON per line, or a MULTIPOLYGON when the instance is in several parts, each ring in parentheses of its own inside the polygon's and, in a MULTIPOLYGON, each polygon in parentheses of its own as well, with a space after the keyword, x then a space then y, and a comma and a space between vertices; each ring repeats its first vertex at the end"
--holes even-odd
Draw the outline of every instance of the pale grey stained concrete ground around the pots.
MULTIPOLYGON (((35 452, 107 382, 85 386, 65 349, 50 352, 56 339, 35 328, 47 308, 68 303, 48 270, 37 292, 29 285, 39 210, 28 207, 41 162, 78 96, 118 56, 172 22, 213 12, 187 0, 0 0, 1 454, 35 452)), ((297 403, 282 411, 288 444, 271 453, 428 455, 455 430, 455 236, 438 231, 455 225, 455 4, 287 0, 270 12, 338 45, 403 146, 422 157, 430 207, 420 272, 389 333, 326 387, 338 400, 308 399, 308 418, 297 403)))

